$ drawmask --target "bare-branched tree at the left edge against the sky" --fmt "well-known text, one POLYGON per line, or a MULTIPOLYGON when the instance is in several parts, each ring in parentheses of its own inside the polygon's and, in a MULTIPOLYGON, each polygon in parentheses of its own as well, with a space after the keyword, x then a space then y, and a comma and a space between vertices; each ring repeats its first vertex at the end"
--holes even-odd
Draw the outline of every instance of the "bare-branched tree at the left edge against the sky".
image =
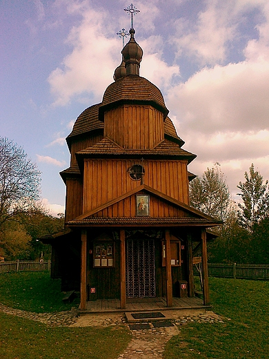
POLYGON ((40 182, 41 173, 23 148, 0 137, 0 231, 6 222, 35 208, 40 182))

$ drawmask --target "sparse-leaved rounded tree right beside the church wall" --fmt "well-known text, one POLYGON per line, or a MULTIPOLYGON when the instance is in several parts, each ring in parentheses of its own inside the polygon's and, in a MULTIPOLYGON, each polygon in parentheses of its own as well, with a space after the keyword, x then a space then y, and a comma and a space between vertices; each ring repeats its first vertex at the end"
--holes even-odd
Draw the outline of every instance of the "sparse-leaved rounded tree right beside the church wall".
POLYGON ((196 177, 190 182, 190 205, 212 217, 226 219, 230 191, 219 163, 207 168, 202 177, 196 177))

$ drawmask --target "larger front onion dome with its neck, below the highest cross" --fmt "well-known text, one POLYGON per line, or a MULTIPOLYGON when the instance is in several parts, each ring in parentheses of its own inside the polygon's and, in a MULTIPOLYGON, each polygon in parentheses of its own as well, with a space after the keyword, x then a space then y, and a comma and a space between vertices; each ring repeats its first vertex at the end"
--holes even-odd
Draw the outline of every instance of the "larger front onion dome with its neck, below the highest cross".
POLYGON ((122 49, 123 61, 126 63, 126 75, 139 75, 143 50, 135 41, 135 29, 130 29, 130 40, 122 49))

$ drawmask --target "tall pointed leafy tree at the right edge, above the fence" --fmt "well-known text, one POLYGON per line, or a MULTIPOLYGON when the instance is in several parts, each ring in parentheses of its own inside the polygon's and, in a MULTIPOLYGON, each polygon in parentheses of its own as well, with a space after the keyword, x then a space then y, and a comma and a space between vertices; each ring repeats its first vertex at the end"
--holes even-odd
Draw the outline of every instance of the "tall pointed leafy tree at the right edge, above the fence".
POLYGON ((269 192, 268 181, 263 184, 263 176, 255 171, 254 164, 251 164, 250 173, 245 172, 246 182, 239 182, 238 193, 243 200, 239 203, 239 220, 241 225, 249 231, 254 231, 255 226, 269 215, 269 192))

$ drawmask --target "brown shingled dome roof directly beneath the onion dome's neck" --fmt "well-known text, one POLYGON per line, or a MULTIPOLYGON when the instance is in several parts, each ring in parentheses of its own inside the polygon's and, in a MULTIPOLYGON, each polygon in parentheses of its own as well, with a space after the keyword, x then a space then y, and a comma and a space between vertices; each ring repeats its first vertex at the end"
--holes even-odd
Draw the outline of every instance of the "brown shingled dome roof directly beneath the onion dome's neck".
POLYGON ((128 75, 108 86, 99 108, 99 119, 103 120, 104 111, 117 104, 149 104, 160 110, 164 118, 169 112, 159 88, 138 75, 128 75))

